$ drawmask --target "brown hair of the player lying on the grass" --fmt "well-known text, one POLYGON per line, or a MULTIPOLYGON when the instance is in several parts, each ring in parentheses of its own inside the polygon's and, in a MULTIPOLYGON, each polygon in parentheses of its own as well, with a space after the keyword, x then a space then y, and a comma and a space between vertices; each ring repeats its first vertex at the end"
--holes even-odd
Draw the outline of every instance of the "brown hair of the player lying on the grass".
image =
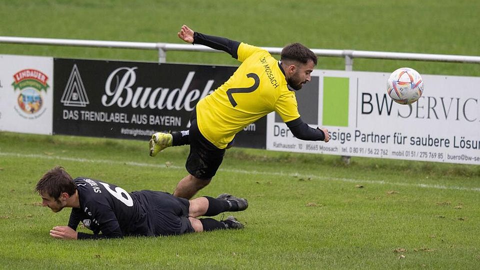
POLYGON ((40 196, 50 196, 58 200, 61 193, 69 196, 76 191, 76 185, 70 174, 61 166, 56 166, 47 171, 36 183, 35 190, 40 196))

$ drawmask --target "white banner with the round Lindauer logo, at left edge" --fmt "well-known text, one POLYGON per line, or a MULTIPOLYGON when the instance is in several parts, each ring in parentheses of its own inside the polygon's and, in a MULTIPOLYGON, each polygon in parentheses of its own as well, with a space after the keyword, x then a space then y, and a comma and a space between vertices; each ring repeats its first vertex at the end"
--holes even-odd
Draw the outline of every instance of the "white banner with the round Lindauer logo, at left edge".
POLYGON ((53 58, 0 54, 0 131, 51 134, 53 58))

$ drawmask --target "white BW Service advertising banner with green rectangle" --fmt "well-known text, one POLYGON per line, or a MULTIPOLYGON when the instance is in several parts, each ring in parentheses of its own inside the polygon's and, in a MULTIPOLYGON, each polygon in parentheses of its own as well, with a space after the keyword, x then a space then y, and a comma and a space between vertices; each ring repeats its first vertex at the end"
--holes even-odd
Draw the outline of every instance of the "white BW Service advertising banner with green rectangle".
POLYGON ((480 164, 480 77, 422 74, 420 99, 400 105, 386 94, 389 75, 314 70, 296 92, 298 108, 310 126, 328 128, 330 141, 299 140, 270 113, 266 148, 480 164))

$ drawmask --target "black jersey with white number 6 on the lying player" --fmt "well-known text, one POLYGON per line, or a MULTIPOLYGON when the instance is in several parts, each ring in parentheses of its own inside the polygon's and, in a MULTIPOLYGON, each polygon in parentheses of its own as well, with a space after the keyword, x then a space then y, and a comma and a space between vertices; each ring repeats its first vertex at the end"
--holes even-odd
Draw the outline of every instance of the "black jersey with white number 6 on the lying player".
POLYGON ((89 178, 75 178, 74 182, 80 207, 72 208, 68 226, 76 230, 81 222, 94 233, 79 232, 78 239, 155 235, 153 220, 149 218, 152 209, 144 191, 128 193, 114 184, 89 178))

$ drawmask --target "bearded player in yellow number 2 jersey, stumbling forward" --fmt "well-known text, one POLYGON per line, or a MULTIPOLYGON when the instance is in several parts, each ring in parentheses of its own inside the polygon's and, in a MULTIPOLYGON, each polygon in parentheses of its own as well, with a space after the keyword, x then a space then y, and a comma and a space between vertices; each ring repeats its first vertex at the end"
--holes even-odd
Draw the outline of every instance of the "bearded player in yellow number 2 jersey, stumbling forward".
POLYGON ((300 43, 286 45, 278 61, 265 49, 194 32, 186 25, 181 26, 178 37, 228 52, 241 64, 225 83, 198 101, 188 130, 158 132, 151 137, 151 156, 168 146, 190 145, 185 165, 189 174, 178 182, 175 196, 191 198, 205 187, 235 134, 271 111, 277 112, 299 139, 330 139, 326 128, 309 127, 298 113, 295 91, 310 80, 316 65, 310 49, 300 43))

